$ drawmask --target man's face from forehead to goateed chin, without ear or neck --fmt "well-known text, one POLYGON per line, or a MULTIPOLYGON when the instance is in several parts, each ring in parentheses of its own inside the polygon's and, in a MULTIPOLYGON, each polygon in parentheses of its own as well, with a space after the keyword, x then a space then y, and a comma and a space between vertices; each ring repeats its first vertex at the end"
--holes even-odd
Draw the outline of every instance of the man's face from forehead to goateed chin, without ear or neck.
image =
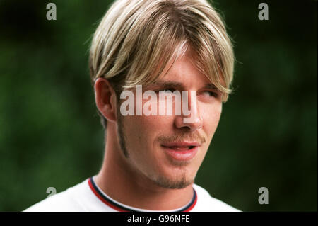
MULTIPOLYGON (((184 188, 194 182, 222 111, 220 92, 188 59, 180 57, 165 76, 142 89, 188 91, 189 96, 196 91, 196 98, 192 97, 196 104, 192 106, 190 99, 188 103, 189 109, 195 106, 194 120, 184 123, 190 115, 176 115, 175 110, 172 115, 119 115, 119 140, 128 153, 125 161, 136 174, 165 188, 184 188)), ((156 104, 159 108, 159 101, 156 104)))

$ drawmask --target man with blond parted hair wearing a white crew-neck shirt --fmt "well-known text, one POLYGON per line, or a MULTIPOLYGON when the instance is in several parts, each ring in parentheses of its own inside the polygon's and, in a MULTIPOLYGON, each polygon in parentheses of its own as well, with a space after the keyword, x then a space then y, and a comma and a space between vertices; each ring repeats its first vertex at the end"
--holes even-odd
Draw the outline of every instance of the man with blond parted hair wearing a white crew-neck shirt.
POLYGON ((225 26, 205 0, 115 1, 90 48, 102 169, 27 211, 237 211, 194 184, 233 61, 225 26))

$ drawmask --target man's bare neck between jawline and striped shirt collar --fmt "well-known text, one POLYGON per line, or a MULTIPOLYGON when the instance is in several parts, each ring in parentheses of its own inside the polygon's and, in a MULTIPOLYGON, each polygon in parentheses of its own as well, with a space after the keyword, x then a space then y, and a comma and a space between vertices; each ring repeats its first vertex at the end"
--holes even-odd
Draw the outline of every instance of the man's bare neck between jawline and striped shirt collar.
POLYGON ((134 169, 124 157, 114 131, 115 125, 109 123, 102 169, 95 178, 107 196, 119 203, 147 210, 182 208, 192 200, 192 185, 181 189, 163 188, 134 169))

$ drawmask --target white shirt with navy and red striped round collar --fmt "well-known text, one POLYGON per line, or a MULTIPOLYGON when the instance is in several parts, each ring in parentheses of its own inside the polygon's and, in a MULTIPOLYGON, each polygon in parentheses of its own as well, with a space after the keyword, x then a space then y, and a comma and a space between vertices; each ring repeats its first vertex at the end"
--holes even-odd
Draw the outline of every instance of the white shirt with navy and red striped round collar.
MULTIPOLYGON (((230 205, 213 198, 200 186, 194 184, 192 200, 182 208, 167 211, 184 212, 233 212, 240 211, 230 205)), ((68 188, 66 191, 49 196, 45 200, 24 210, 30 212, 123 212, 123 211, 155 211, 134 208, 124 205, 107 196, 94 182, 93 177, 68 188)), ((165 212, 158 210, 158 212, 165 212)))

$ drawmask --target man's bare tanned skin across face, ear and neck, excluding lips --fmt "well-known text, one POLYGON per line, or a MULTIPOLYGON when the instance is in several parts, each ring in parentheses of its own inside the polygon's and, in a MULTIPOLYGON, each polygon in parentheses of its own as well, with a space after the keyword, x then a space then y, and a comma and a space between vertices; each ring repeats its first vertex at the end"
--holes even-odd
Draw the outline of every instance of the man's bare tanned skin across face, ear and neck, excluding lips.
POLYGON ((95 181, 114 200, 136 208, 172 210, 192 199, 192 184, 216 132, 222 101, 220 92, 209 86, 211 83, 189 59, 187 55, 179 57, 155 84, 143 86, 143 92, 196 91, 192 123, 184 123, 189 116, 175 113, 120 115, 110 83, 103 78, 95 81, 96 105, 107 119, 105 158, 95 181), (119 139, 124 140, 122 145, 119 139), (165 152, 162 145, 167 141, 195 141, 200 146, 193 159, 178 161, 165 152))

